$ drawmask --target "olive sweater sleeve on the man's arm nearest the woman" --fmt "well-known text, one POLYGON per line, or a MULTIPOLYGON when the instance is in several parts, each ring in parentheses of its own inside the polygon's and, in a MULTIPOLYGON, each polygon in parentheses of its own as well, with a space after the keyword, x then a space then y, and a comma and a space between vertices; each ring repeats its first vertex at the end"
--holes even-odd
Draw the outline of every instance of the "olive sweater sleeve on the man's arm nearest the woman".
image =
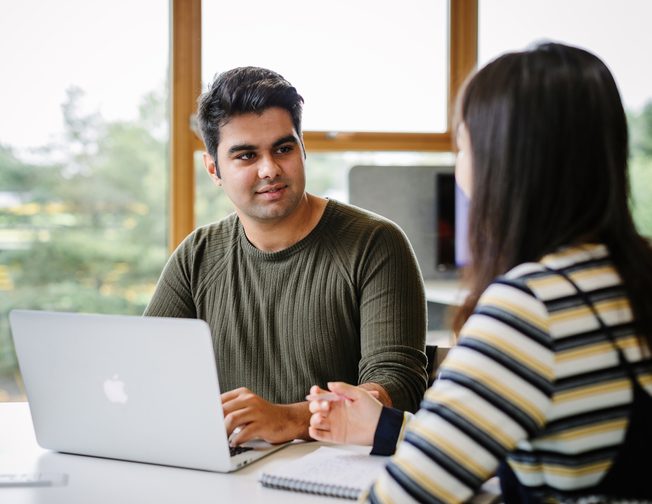
POLYGON ((426 301, 410 244, 393 223, 367 243, 358 279, 360 383, 385 388, 395 408, 416 411, 426 389, 426 301))

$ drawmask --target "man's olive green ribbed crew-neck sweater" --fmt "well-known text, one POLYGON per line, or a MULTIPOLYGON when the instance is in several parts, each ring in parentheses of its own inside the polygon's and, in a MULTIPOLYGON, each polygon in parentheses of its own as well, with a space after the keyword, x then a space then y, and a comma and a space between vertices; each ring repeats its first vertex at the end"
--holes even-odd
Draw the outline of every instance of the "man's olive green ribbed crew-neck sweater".
POLYGON ((235 214, 170 257, 145 315, 208 322, 223 392, 275 403, 313 384, 374 382, 414 411, 426 387, 426 312, 414 253, 394 223, 330 200, 317 226, 279 252, 248 240, 235 214))

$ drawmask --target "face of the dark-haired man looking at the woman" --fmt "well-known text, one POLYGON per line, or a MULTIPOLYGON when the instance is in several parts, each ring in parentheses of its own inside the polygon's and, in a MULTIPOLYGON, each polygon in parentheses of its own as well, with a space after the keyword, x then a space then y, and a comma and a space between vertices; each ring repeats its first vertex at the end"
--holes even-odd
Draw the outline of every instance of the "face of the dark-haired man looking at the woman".
POLYGON ((244 221, 282 221, 304 195, 303 146, 282 108, 232 117, 220 128, 219 177, 207 154, 204 164, 244 221))

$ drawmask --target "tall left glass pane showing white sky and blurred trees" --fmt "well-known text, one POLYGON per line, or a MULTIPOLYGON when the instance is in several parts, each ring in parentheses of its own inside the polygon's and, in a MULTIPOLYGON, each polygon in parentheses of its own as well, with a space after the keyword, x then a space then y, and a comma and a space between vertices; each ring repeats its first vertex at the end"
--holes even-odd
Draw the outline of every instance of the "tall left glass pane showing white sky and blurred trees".
POLYGON ((167 3, 24 0, 0 16, 0 400, 13 308, 142 313, 165 259, 167 3))

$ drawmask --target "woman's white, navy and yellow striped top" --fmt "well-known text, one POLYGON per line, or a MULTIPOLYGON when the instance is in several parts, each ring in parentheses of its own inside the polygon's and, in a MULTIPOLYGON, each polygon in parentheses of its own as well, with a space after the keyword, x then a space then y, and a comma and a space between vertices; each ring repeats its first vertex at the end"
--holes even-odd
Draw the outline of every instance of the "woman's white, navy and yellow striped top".
POLYGON ((522 485, 544 496, 591 493, 600 482, 625 436, 632 385, 590 308, 546 266, 589 295, 652 393, 652 359, 606 247, 561 249, 483 293, 364 498, 465 501, 505 458, 522 485))

